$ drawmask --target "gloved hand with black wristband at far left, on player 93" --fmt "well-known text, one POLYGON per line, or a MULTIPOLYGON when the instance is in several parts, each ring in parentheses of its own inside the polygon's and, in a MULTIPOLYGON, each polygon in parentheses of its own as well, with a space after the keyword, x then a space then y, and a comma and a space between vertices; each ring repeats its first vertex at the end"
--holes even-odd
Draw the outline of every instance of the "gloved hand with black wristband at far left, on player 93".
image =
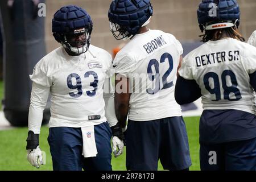
POLYGON ((43 154, 39 147, 39 134, 34 134, 33 131, 28 131, 27 136, 27 160, 36 168, 43 165, 43 154))

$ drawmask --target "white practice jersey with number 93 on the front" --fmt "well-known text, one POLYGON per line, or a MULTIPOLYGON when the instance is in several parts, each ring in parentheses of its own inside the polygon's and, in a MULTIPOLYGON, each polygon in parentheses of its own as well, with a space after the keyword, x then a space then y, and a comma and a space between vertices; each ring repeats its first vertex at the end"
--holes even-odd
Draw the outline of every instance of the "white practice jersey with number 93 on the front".
POLYGON ((111 65, 112 56, 92 45, 80 56, 69 56, 59 47, 43 57, 30 78, 51 88, 49 127, 86 127, 105 122, 103 86, 111 65))

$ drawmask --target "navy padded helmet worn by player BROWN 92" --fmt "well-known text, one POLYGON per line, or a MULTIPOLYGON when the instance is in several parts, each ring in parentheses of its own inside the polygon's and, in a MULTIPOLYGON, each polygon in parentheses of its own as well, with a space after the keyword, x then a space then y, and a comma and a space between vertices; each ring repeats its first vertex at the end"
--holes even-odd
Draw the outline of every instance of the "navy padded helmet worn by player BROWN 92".
POLYGON ((114 0, 109 9, 110 31, 115 39, 129 39, 150 22, 150 0, 114 0))

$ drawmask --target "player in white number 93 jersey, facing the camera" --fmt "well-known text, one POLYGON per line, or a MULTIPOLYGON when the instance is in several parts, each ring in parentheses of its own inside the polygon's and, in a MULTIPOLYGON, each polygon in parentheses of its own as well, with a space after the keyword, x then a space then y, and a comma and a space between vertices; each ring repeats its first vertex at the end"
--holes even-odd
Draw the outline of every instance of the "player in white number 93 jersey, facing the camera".
POLYGON ((122 154, 124 137, 109 92, 112 56, 90 45, 92 28, 89 14, 78 6, 61 7, 52 19, 53 36, 62 46, 43 57, 30 75, 26 148, 32 166, 42 164, 39 134, 49 94, 53 170, 112 170, 112 135, 114 155, 122 154))

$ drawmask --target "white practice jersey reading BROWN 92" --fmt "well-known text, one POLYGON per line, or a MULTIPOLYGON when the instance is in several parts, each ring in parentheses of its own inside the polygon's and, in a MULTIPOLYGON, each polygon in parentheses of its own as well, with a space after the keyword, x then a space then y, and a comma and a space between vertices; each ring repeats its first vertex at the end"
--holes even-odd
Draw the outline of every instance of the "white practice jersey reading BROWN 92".
POLYGON ((129 78, 129 119, 150 121, 181 116, 174 90, 182 53, 180 42, 159 30, 135 35, 117 53, 113 61, 115 73, 129 78))

